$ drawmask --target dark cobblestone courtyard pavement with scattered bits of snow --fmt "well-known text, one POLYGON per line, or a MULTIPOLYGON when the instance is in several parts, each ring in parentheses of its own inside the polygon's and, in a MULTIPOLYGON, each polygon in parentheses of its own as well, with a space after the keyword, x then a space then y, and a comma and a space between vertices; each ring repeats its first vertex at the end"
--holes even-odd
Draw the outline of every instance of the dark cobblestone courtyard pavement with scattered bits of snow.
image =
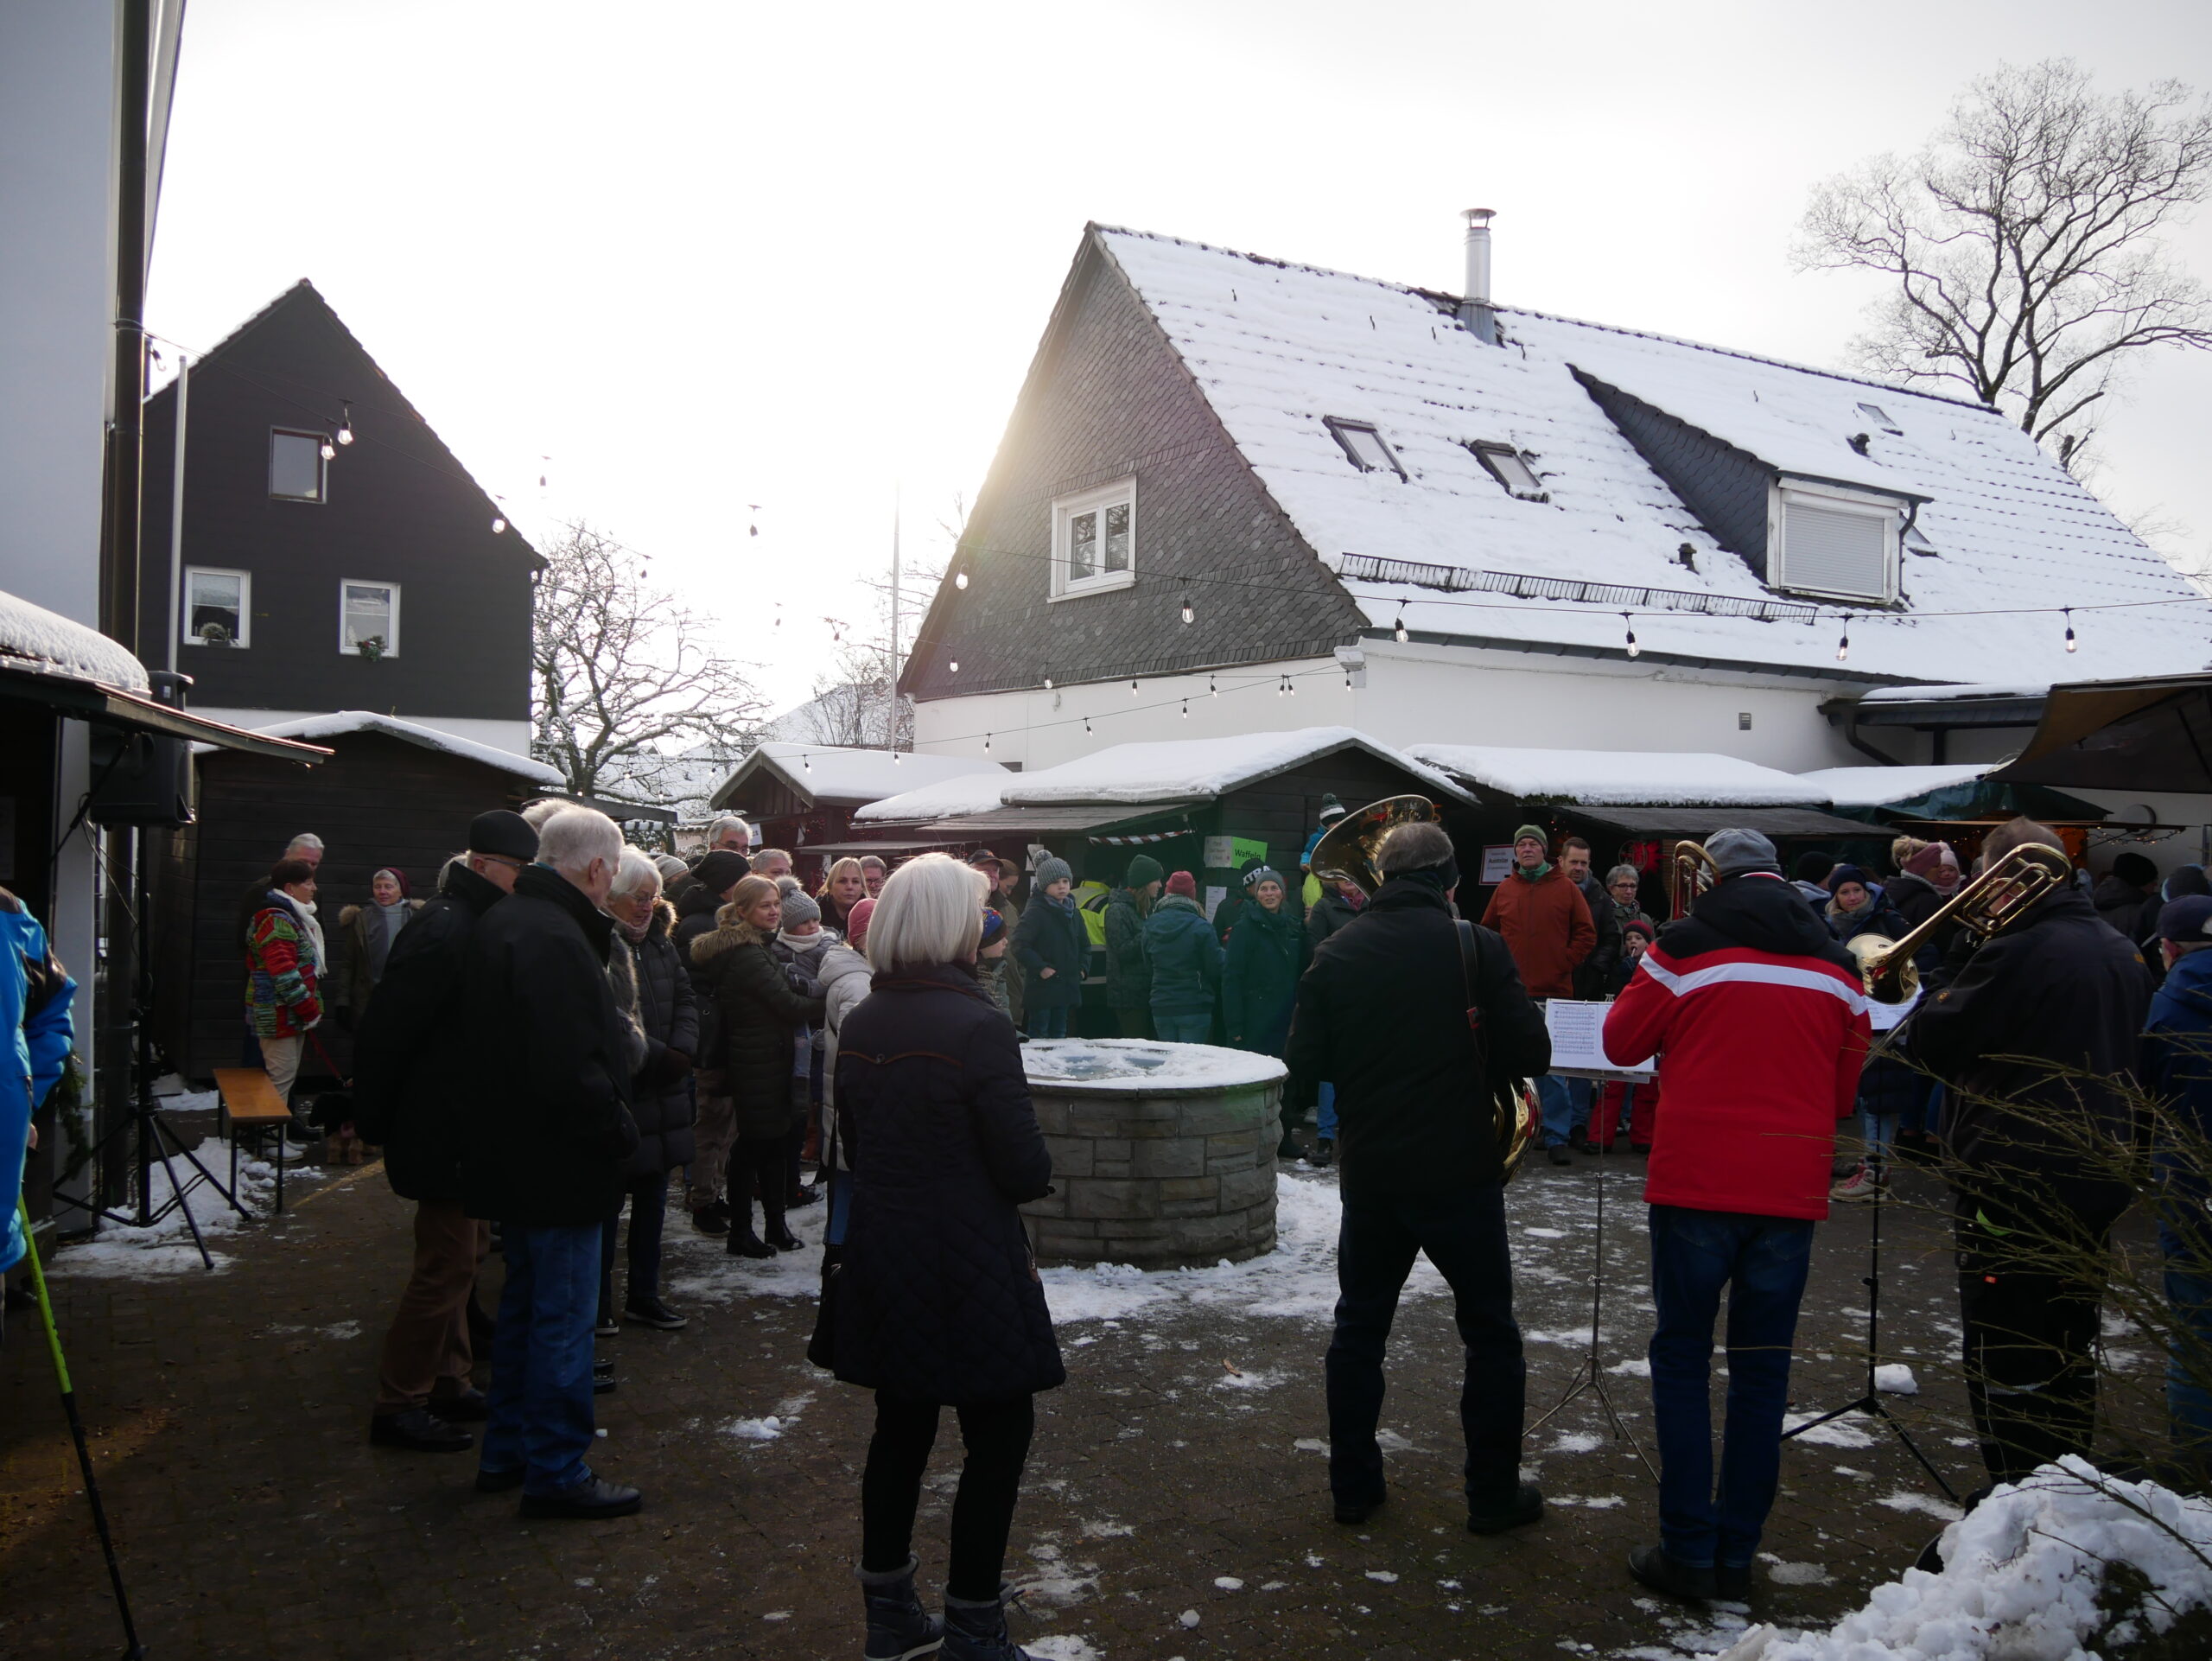
MULTIPOLYGON (((1531 1418, 1568 1385, 1588 1334, 1597 1170, 1610 1172, 1604 1380, 1650 1431, 1650 1307, 1637 1159, 1533 1163, 1509 1190, 1531 1418)), ((1933 1185, 1909 1172, 1909 1197, 1933 1185)), ((1053 1278, 1071 1382, 1040 1398, 1015 1517, 1015 1634, 1044 1654, 1672 1657, 1717 1650, 1743 1615, 1646 1597, 1626 1550, 1655 1535, 1655 1491, 1582 1396, 1528 1438, 1551 1495, 1537 1528, 1464 1533, 1449 1298, 1420 1267, 1394 1336, 1385 1438, 1391 1502, 1360 1531, 1327 1515, 1321 1351, 1334 1177, 1292 1172, 1272 1263, 1186 1276, 1053 1278)), ((818 1208, 799 1214, 818 1230, 818 1208)), ((1820 1230, 1796 1402, 1863 1382, 1867 1216, 1820 1230)), ((1889 1398, 1953 1484, 1975 1484, 1951 1365, 1947 1254, 1889 1212, 1889 1398)), ((223 1243, 221 1274, 73 1267, 64 1343, 102 1491, 155 1657, 832 1657, 856 1654, 858 1473, 869 1402, 803 1358, 814 1250, 752 1265, 677 1216, 681 1334, 604 1340, 597 1466, 646 1491, 639 1517, 524 1524, 469 1486, 471 1455, 369 1449, 376 1340, 407 1263, 407 1208, 365 1168, 305 1190, 283 1221, 223 1243)), ((487 1265, 487 1303, 498 1263, 487 1265)), ((1792 1442, 1754 1619, 1809 1623, 1893 1577, 1947 1515, 1880 1427, 1792 1442)), ((942 1573, 958 1449, 947 1422, 920 1524, 942 1573)), ((119 1650, 115 1610, 35 1316, 0 1351, 0 1654, 119 1650)))

